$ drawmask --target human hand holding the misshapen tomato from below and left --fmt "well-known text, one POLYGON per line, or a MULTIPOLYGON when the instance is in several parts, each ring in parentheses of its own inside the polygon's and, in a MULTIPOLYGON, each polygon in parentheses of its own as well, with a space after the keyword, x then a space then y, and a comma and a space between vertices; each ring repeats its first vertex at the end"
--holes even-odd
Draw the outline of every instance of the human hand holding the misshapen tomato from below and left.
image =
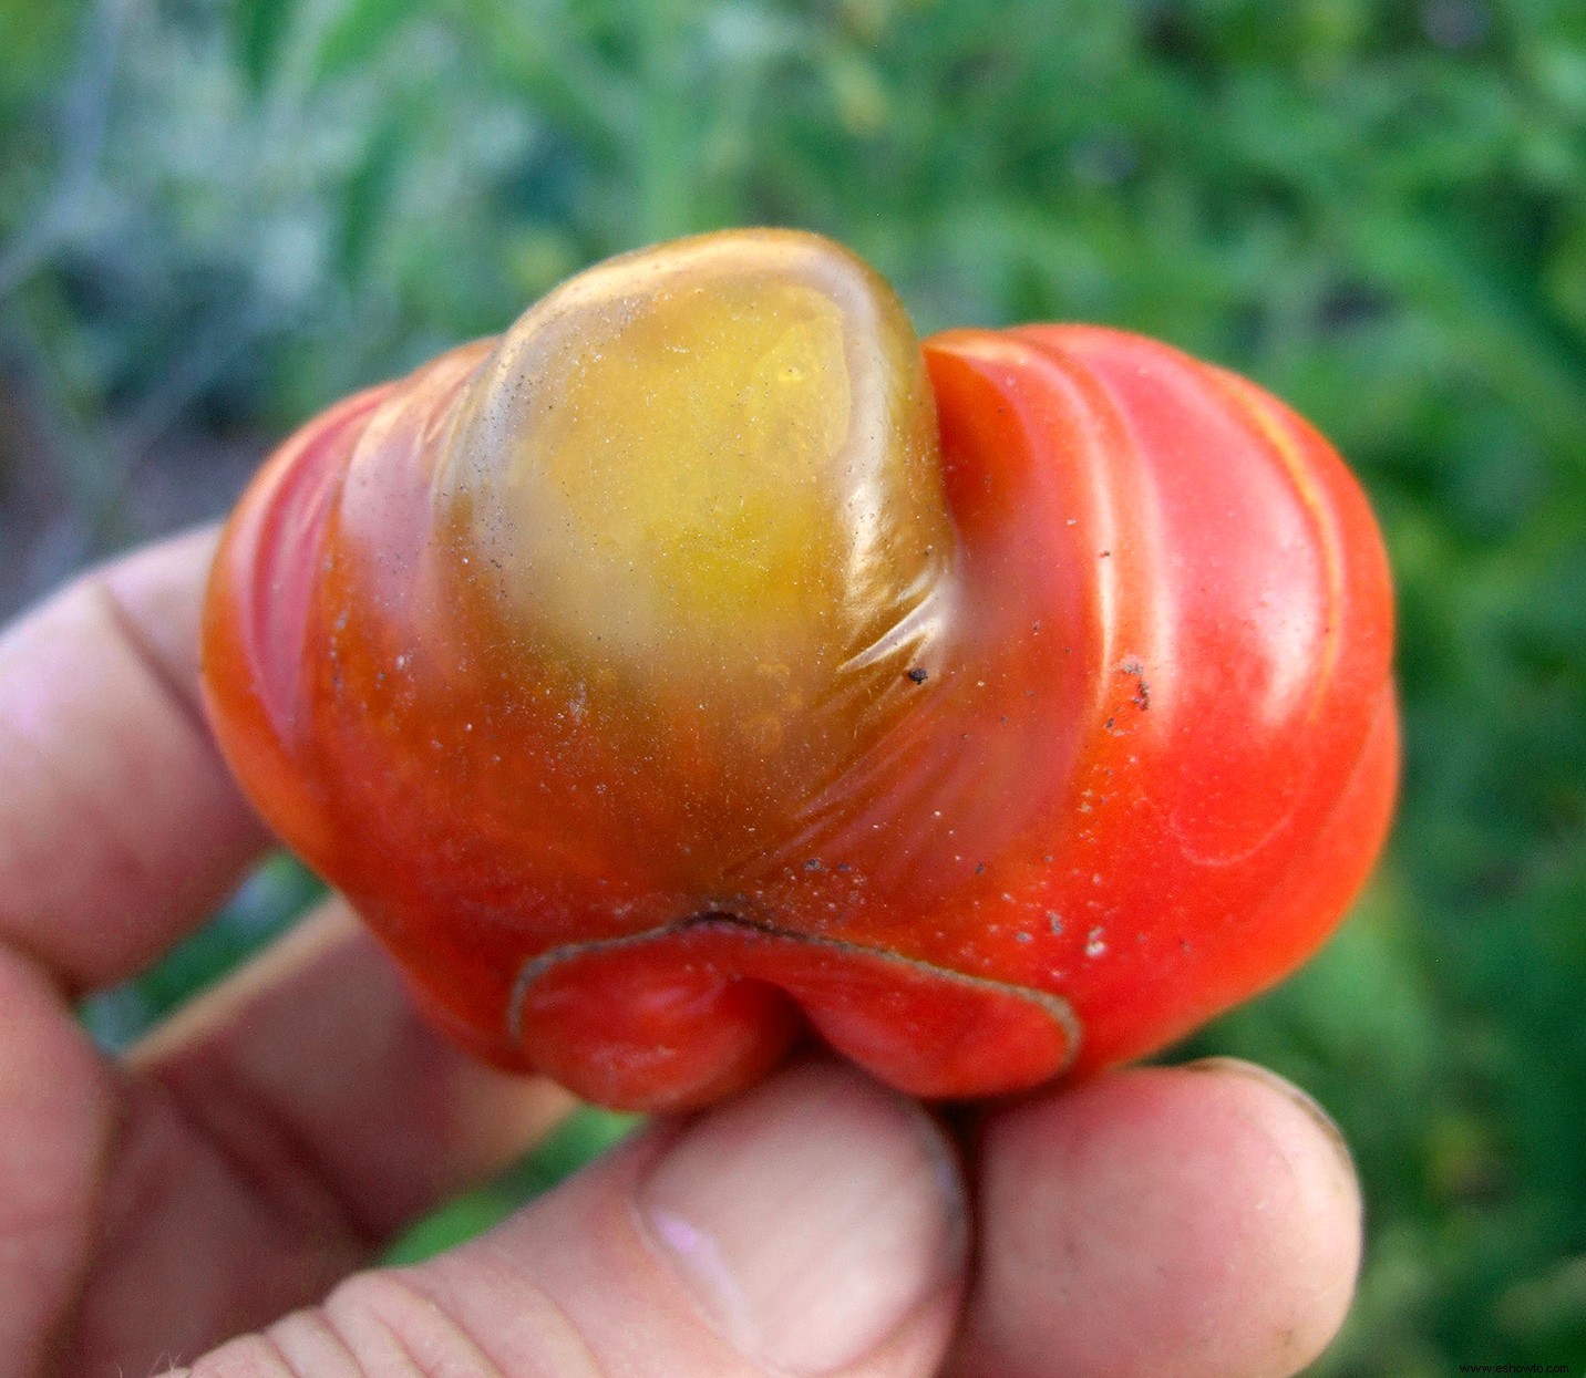
POLYGON ((198 704, 213 539, 0 637, 0 1375, 1278 1378, 1331 1338, 1347 1150, 1228 1061, 988 1108, 967 1146, 809 1061, 360 1272, 569 1102, 442 1045, 335 899, 125 1059, 81 1031, 268 842, 198 704))

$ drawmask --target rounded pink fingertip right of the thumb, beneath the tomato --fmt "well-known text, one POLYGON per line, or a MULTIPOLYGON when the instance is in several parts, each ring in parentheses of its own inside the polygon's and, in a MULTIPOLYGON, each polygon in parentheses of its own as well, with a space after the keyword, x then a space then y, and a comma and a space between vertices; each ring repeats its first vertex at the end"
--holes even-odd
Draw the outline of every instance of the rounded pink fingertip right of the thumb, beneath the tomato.
POLYGON ((990 1120, 950 1372, 1286 1378, 1337 1332, 1361 1204, 1337 1129, 1247 1062, 1140 1069, 990 1120))

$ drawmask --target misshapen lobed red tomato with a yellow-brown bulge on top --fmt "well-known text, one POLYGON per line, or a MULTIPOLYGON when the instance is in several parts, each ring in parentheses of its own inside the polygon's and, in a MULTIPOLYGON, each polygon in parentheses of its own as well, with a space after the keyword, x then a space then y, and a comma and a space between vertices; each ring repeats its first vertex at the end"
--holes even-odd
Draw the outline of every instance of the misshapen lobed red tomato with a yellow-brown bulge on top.
POLYGON ((1381 542, 1305 422, 1115 330, 921 349, 791 232, 311 422, 203 636, 430 1015, 630 1108, 807 1031, 929 1097, 1140 1056, 1316 948, 1397 771, 1381 542))

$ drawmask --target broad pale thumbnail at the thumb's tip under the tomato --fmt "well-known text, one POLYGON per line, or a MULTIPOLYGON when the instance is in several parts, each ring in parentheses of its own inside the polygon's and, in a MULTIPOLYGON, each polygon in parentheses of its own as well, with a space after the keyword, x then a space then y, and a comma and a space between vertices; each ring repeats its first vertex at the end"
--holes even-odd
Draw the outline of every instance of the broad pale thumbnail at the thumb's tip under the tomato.
POLYGON ((658 1254, 745 1359, 872 1353, 964 1259, 963 1188, 912 1102, 812 1064, 691 1126, 639 1186, 658 1254))

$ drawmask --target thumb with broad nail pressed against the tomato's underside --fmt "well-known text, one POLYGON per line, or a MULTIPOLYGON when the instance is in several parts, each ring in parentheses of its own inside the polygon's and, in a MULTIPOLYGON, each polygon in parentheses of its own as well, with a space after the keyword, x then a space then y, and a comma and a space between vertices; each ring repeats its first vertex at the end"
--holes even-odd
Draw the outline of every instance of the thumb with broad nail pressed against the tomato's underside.
POLYGON ((814 1062, 653 1127, 449 1254, 349 1278, 190 1375, 923 1378, 964 1246, 940 1131, 814 1062))

